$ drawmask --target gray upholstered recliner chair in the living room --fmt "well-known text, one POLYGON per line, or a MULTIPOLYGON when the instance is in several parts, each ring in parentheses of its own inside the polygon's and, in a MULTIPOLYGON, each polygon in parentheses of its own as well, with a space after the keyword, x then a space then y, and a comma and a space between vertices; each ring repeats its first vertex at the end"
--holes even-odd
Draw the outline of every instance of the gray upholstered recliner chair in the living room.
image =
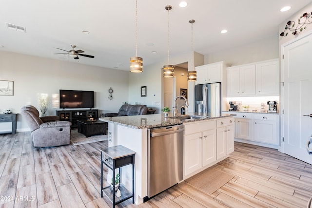
POLYGON ((68 145, 72 123, 59 121, 59 116, 39 117, 39 111, 32 105, 23 106, 20 113, 31 130, 34 147, 68 145))

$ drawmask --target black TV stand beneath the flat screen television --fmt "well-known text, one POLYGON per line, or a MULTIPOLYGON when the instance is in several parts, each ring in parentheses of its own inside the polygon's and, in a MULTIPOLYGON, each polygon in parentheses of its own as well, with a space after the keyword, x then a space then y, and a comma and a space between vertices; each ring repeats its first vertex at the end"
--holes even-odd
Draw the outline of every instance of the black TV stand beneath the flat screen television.
POLYGON ((56 112, 59 116, 59 120, 61 121, 70 121, 72 123, 72 128, 78 127, 78 120, 86 120, 90 117, 98 119, 98 110, 91 109, 90 110, 83 110, 83 109, 76 109, 76 110, 61 110, 56 112), (78 113, 79 112, 79 113, 78 113))

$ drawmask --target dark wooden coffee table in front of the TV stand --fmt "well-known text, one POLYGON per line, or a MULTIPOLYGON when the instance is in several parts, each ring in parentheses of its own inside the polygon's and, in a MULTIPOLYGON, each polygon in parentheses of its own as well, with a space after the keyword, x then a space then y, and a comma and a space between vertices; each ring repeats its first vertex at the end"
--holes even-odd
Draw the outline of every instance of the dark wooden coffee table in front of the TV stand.
POLYGON ((88 121, 79 119, 77 121, 78 132, 90 137, 93 135, 106 134, 107 122, 104 121, 88 121))

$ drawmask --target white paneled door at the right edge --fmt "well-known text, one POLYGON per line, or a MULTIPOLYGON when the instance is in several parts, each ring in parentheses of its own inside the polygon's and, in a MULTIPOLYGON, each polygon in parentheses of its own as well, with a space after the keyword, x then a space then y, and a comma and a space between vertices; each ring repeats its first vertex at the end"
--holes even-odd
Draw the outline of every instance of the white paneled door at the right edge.
POLYGON ((284 152, 312 164, 306 143, 312 134, 312 35, 282 48, 284 152))

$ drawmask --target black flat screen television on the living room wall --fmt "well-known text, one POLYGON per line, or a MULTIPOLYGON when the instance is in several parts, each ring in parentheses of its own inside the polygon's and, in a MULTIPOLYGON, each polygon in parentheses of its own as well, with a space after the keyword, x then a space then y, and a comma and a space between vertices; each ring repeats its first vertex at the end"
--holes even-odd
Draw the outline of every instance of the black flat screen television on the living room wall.
POLYGON ((94 108, 94 91, 59 90, 59 108, 94 108))

